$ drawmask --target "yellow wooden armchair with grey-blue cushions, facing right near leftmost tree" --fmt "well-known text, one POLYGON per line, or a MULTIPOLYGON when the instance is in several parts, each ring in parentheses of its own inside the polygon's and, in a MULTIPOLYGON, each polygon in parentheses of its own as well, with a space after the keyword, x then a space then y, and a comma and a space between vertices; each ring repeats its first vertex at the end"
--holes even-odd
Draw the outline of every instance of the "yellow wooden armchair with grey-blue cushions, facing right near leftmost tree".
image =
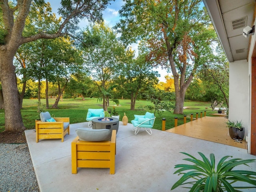
POLYGON ((36 122, 36 142, 39 139, 61 139, 69 134, 69 117, 52 118, 49 112, 40 113, 41 121, 36 122), (52 122, 54 121, 54 122, 52 122))

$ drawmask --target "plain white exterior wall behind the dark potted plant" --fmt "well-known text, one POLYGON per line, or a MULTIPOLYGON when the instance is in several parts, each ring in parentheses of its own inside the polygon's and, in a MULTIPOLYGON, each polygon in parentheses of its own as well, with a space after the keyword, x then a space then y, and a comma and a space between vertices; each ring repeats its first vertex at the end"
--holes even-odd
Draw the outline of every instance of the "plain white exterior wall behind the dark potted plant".
MULTIPOLYGON (((250 128, 250 75, 247 60, 229 64, 229 111, 228 119, 242 120, 245 127, 245 138, 250 128)), ((244 138, 244 139, 245 139, 244 138)))

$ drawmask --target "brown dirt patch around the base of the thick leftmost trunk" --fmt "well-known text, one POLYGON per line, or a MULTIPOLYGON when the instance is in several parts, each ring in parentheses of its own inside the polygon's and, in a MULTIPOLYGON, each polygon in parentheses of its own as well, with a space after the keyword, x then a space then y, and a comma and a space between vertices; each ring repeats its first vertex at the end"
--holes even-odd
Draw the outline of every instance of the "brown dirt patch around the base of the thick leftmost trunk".
POLYGON ((24 131, 3 131, 0 133, 0 143, 21 144, 26 143, 24 131))

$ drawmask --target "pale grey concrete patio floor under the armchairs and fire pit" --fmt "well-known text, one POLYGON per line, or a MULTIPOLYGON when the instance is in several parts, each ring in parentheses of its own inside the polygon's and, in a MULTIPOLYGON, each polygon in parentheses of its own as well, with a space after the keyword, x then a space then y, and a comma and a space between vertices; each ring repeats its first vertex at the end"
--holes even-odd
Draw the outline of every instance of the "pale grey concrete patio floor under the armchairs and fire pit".
MULTIPOLYGON (((36 143, 36 132, 25 131, 40 192, 168 192, 180 178, 173 174, 174 165, 187 163, 182 160, 187 156, 180 152, 197 158, 200 158, 197 152, 207 158, 214 153, 217 163, 226 155, 256 159, 245 149, 161 130, 152 129, 150 136, 143 129, 134 135, 132 124, 124 126, 120 122, 116 136, 116 173, 109 174, 107 168, 78 168, 77 174, 71 174, 71 142, 80 127, 88 127, 88 122, 71 124, 70 135, 64 137, 64 142, 47 139, 36 143)), ((256 171, 256 163, 249 166, 240 166, 240 169, 256 171)), ((173 191, 187 192, 188 189, 173 191)))

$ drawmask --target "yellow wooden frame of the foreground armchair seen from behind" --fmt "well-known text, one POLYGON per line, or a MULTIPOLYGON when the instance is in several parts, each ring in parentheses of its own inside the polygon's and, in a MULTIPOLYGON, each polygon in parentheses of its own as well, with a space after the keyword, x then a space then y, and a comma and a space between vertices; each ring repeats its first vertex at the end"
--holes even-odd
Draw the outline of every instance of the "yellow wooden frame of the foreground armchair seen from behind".
MULTIPOLYGON (((108 129, 94 129, 92 132, 97 134, 102 130, 110 132, 108 129)), ((110 168, 110 174, 115 174, 115 154, 116 130, 112 130, 111 140, 107 141, 80 140, 77 136, 71 143, 72 174, 77 174, 78 167, 110 168)))

